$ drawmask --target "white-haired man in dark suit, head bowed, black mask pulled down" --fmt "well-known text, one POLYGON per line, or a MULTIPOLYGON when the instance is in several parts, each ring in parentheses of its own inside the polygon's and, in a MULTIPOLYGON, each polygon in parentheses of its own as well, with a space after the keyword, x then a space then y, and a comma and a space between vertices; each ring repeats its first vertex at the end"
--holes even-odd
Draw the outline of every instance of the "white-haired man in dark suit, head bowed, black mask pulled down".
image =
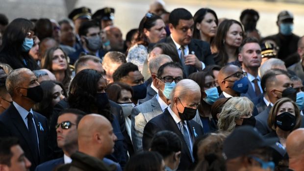
POLYGON ((151 141, 159 131, 175 132, 182 140, 180 164, 177 170, 187 170, 194 162, 193 143, 203 135, 203 127, 192 119, 201 101, 200 86, 190 79, 179 81, 171 93, 171 104, 164 113, 150 120, 143 135, 143 149, 151 147, 151 141))

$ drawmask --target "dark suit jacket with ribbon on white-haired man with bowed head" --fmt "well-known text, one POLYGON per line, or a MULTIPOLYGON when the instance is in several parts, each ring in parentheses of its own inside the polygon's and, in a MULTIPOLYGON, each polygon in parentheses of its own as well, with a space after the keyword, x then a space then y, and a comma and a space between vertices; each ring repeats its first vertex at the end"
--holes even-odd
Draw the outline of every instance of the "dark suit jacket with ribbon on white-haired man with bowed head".
MULTIPOLYGON (((190 136, 192 137, 192 142, 194 144, 195 140, 204 134, 203 127, 199 123, 192 120, 187 121, 187 126, 191 134, 190 136), (197 136, 194 135, 194 132, 197 133, 197 136)), ((162 130, 175 132, 181 139, 182 141, 181 158, 177 170, 178 171, 187 170, 193 164, 190 156, 190 151, 186 145, 186 142, 184 141, 184 138, 176 122, 172 118, 168 109, 166 109, 164 113, 156 116, 146 124, 143 134, 143 149, 148 150, 151 147, 151 141, 154 134, 162 130)))

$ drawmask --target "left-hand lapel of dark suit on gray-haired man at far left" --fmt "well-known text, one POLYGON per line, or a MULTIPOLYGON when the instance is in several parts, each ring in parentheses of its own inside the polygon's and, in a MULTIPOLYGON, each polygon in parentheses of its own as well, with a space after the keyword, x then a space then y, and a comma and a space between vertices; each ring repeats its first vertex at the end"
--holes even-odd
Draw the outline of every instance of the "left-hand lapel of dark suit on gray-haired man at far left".
POLYGON ((15 108, 15 106, 12 104, 9 107, 9 113, 10 116, 13 120, 13 124, 15 125, 15 127, 18 129, 18 131, 20 132, 20 134, 23 136, 23 138, 25 139, 25 142, 27 144, 27 146, 29 147, 30 151, 31 151, 31 155, 33 156, 33 159, 36 162, 36 165, 38 165, 38 159, 36 159, 33 155, 34 154, 34 149, 32 146, 32 141, 29 139, 29 132, 28 129, 25 125, 25 122, 23 121, 21 115, 19 114, 18 110, 15 108))

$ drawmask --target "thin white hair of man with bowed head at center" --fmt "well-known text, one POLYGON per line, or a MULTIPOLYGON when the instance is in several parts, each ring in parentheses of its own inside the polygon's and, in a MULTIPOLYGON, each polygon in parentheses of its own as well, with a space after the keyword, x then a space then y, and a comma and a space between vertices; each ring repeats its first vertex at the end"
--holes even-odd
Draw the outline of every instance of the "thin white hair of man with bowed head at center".
POLYGON ((189 92, 199 93, 201 95, 201 88, 198 83, 196 83, 192 79, 182 79, 172 90, 170 94, 170 100, 171 102, 173 102, 174 97, 182 99, 188 96, 189 92))

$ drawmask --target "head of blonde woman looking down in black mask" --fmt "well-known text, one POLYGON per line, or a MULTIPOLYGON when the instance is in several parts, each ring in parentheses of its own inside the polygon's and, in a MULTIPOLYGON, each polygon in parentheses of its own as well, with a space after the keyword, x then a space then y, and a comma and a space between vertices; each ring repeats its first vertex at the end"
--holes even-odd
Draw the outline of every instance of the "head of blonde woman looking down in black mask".
POLYGON ((223 106, 217 123, 220 131, 231 132, 236 126, 255 125, 253 102, 247 97, 230 98, 223 106))

